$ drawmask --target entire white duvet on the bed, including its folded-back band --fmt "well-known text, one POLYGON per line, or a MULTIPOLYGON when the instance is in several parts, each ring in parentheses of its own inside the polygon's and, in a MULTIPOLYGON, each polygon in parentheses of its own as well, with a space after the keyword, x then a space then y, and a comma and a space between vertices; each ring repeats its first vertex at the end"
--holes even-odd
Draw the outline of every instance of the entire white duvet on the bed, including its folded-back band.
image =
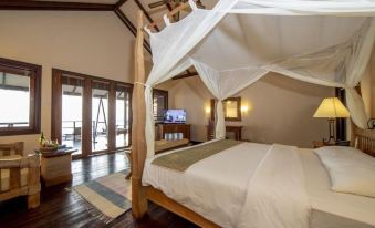
POLYGON ((309 227, 310 204, 296 147, 242 143, 184 173, 152 160, 146 160, 144 185, 222 227, 309 227))

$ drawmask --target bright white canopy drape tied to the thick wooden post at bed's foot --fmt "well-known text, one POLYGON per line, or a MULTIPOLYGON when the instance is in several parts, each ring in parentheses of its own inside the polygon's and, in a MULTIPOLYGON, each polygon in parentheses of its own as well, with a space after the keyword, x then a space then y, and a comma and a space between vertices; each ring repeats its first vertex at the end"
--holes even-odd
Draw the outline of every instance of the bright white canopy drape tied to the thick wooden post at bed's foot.
MULTIPOLYGON (((235 0, 221 0, 212 10, 197 9, 192 0, 189 3, 192 12, 178 23, 168 23, 162 32, 150 34, 154 66, 146 81, 146 144, 147 157, 155 154, 155 124, 153 118, 152 86, 169 80, 176 71, 176 64, 201 40, 236 3, 235 0)), ((188 61, 188 60, 186 60, 188 61)), ((181 65, 188 65, 183 61, 181 65)))

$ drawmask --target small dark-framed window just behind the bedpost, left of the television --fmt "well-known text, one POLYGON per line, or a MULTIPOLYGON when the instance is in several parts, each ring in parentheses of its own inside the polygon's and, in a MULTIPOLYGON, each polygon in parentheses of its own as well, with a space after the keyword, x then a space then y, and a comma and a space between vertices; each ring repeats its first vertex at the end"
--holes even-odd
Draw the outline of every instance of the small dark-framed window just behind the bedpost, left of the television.
POLYGON ((153 90, 153 112, 155 123, 164 121, 164 111, 168 108, 168 91, 153 90))

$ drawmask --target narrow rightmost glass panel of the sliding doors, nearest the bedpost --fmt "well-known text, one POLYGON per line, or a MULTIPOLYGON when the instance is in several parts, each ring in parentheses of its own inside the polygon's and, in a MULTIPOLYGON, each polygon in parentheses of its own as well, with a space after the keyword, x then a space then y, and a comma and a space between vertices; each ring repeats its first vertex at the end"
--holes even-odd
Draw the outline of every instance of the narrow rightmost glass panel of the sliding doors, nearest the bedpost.
POLYGON ((131 141, 131 89, 116 87, 116 147, 127 147, 131 141))

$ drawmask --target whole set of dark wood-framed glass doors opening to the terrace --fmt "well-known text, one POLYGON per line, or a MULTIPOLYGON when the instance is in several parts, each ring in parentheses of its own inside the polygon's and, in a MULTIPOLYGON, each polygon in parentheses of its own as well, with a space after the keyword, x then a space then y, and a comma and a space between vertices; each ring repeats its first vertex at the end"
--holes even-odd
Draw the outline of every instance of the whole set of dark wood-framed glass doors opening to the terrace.
POLYGON ((53 69, 52 91, 51 138, 73 158, 131 145, 132 84, 53 69))

